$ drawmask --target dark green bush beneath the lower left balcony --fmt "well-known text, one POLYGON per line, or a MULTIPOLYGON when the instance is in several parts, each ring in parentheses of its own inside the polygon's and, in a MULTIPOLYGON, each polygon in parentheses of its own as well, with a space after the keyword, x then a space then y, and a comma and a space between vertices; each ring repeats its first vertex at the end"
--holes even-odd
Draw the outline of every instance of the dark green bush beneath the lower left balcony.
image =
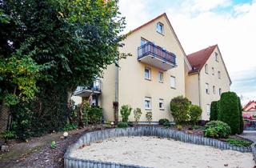
POLYGON ((91 106, 88 110, 88 123, 100 124, 102 122, 103 114, 102 108, 98 106, 91 106))

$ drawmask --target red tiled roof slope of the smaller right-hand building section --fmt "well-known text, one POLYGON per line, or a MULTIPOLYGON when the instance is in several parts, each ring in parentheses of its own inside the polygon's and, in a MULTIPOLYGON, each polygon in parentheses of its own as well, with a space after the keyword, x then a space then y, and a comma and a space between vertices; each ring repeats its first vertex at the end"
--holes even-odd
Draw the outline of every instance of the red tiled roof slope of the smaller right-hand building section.
POLYGON ((217 45, 209 46, 206 49, 198 50, 197 52, 187 55, 187 59, 192 66, 190 73, 199 72, 202 70, 202 67, 205 65, 208 58, 210 58, 210 55, 214 52, 216 46, 217 45))

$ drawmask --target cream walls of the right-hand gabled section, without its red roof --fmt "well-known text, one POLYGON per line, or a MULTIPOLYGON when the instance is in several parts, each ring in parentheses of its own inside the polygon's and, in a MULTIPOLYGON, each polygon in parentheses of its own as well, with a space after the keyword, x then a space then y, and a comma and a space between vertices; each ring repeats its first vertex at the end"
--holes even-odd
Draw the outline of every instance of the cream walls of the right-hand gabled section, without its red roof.
POLYGON ((186 98, 189 98, 192 104, 201 106, 202 119, 208 120, 210 118, 210 109, 208 109, 210 103, 219 100, 223 92, 230 91, 231 85, 218 46, 210 54, 210 58, 207 59, 202 70, 198 73, 186 74, 186 98), (216 61, 215 54, 218 54, 218 61, 216 61), (208 66, 208 73, 206 73, 206 66, 208 66), (206 84, 209 86, 208 93, 206 93, 206 84))

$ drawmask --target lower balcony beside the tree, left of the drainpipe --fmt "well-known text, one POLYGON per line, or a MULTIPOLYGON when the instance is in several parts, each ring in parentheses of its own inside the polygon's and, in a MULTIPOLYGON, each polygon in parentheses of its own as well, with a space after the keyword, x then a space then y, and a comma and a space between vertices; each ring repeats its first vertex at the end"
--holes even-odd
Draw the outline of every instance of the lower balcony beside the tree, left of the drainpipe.
POLYGON ((92 93, 102 93, 102 82, 100 80, 95 80, 90 86, 78 86, 78 88, 74 91, 74 96, 89 97, 92 93))

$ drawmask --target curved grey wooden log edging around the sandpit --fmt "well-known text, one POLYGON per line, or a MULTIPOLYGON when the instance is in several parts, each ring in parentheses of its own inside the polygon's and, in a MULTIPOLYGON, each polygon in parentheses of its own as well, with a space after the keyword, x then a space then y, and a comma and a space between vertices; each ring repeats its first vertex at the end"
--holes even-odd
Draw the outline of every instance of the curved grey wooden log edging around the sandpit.
MULTIPOLYGON (((182 131, 171 130, 166 128, 159 128, 155 126, 139 126, 139 127, 128 127, 128 128, 116 128, 109 130, 98 130, 94 132, 88 132, 82 135, 75 142, 74 145, 70 146, 66 150, 64 155, 64 167, 65 168, 145 168, 145 166, 136 166, 129 164, 121 164, 114 162, 98 162, 93 160, 78 159, 70 157, 74 150, 78 150, 80 146, 89 145, 93 142, 103 141, 108 138, 118 137, 131 137, 131 136, 155 136, 160 138, 171 138, 181 142, 188 142, 203 146, 213 146, 221 150, 236 150, 240 152, 252 152, 251 147, 233 146, 226 142, 218 141, 217 139, 205 138, 198 135, 186 134, 182 131)), ((255 146, 255 144, 254 144, 255 146)), ((256 150, 256 149, 254 149, 256 150)), ((254 153, 255 157, 256 151, 254 153)))

